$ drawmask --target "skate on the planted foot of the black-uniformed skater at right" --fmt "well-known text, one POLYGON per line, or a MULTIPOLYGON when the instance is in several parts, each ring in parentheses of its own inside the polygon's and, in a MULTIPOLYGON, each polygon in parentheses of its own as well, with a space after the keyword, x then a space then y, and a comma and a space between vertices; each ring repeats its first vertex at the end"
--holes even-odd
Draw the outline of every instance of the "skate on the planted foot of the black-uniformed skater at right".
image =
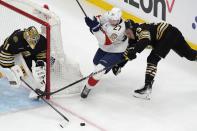
POLYGON ((152 84, 153 82, 151 82, 150 84, 146 83, 143 88, 135 90, 133 96, 136 98, 150 100, 152 93, 152 84))

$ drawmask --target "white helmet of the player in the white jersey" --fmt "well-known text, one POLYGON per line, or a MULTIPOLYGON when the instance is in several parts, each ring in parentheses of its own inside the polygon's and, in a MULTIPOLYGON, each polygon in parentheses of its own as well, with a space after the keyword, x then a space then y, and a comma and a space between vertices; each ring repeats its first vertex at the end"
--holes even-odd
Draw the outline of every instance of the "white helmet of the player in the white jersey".
POLYGON ((108 18, 110 20, 120 20, 121 16, 122 16, 122 11, 119 8, 112 8, 111 11, 109 11, 108 13, 108 18))

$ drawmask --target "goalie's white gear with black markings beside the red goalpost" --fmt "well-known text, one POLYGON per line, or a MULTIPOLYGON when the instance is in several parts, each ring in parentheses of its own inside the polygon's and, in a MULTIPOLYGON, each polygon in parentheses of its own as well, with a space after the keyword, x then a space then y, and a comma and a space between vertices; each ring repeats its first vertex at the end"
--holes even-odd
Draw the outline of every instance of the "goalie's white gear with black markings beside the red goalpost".
MULTIPOLYGON (((32 61, 32 75, 39 84, 39 87, 36 88, 35 91, 39 95, 44 93, 46 85, 46 63, 42 60, 38 60, 36 62, 32 61)), ((29 95, 29 98, 36 99, 37 96, 38 95, 32 91, 29 95)))

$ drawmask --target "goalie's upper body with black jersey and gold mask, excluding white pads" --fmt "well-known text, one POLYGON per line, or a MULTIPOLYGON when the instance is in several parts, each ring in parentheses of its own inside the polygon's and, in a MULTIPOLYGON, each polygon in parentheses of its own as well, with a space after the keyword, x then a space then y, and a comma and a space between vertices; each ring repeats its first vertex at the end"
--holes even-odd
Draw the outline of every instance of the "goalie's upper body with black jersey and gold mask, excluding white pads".
POLYGON ((0 65, 14 66, 14 56, 21 53, 31 70, 32 60, 46 61, 46 38, 33 26, 14 31, 0 47, 0 65))

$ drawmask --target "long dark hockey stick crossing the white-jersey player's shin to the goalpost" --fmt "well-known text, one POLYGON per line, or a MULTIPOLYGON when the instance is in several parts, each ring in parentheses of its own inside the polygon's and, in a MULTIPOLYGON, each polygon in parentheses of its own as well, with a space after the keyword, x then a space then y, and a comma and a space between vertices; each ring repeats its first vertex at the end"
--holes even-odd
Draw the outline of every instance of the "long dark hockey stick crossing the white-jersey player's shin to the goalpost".
POLYGON ((73 82, 73 83, 71 83, 71 84, 69 84, 69 85, 67 85, 67 86, 65 86, 65 87, 63 87, 63 88, 60 88, 60 89, 58 89, 58 90, 56 90, 56 91, 53 91, 53 92, 51 92, 51 93, 45 93, 45 92, 43 92, 43 94, 41 94, 41 95, 38 95, 38 98, 39 97, 43 97, 43 96, 46 96, 46 95, 54 95, 54 94, 56 94, 56 93, 58 93, 58 92, 60 92, 60 91, 62 91, 62 90, 65 90, 65 89, 67 89, 67 88, 69 88, 70 86, 73 86, 73 85, 75 85, 75 84, 77 84, 77 83, 80 83, 80 82, 82 82, 83 80, 86 80, 86 79, 88 79, 88 78, 90 78, 90 77, 92 77, 92 76, 94 76, 94 75, 96 75, 96 74, 99 74, 99 73, 101 73, 101 72, 103 72, 103 71, 105 71, 105 70, 107 70, 107 69, 110 69, 110 68, 113 68, 115 65, 117 65, 117 64, 120 64, 120 63, 122 63, 122 62, 125 62, 125 61, 127 61, 128 59, 123 59, 123 60, 121 60, 121 61, 119 61, 119 62, 117 62, 117 63, 115 63, 115 64, 113 64, 113 65, 111 65, 111 66, 108 66, 108 67, 105 67, 105 68, 103 68, 103 69, 101 69, 101 70, 99 70, 99 71, 96 71, 96 72, 93 72, 93 73, 91 73, 90 75, 88 75, 88 76, 86 76, 86 77, 83 77, 83 78, 81 78, 81 79, 79 79, 79 80, 77 80, 77 81, 75 81, 75 82, 73 82))

